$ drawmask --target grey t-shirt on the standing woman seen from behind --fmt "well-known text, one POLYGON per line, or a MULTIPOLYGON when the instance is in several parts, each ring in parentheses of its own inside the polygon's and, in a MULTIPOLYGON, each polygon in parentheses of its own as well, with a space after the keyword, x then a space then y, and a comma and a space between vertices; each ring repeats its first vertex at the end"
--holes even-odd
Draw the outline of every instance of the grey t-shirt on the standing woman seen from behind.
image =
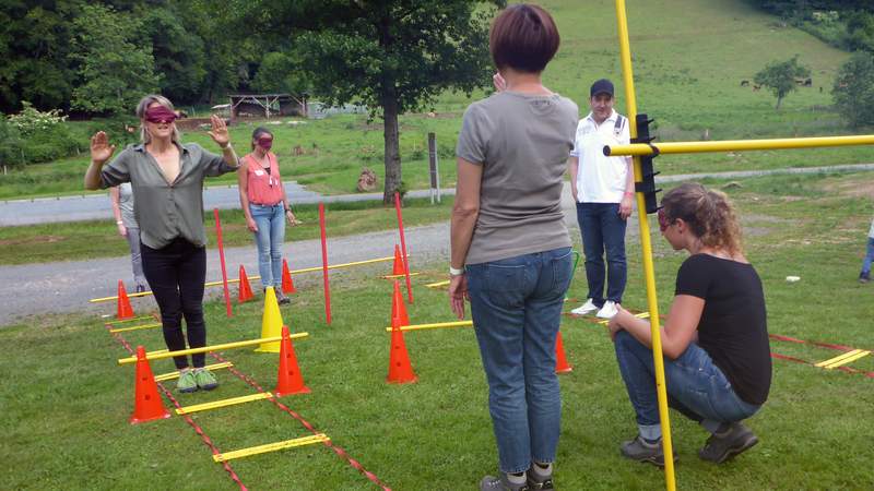
POLYGON ((456 155, 483 166, 466 264, 570 247, 562 176, 579 109, 557 94, 501 92, 464 112, 456 155))

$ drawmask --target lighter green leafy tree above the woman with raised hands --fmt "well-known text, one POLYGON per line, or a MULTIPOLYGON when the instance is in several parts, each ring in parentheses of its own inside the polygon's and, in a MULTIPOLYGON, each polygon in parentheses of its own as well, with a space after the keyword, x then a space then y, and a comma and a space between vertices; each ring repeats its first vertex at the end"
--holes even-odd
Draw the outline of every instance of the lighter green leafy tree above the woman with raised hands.
POLYGON ((138 46, 141 21, 101 4, 83 5, 73 21, 73 53, 80 84, 71 106, 87 112, 130 111, 143 95, 155 92, 151 46, 138 46))

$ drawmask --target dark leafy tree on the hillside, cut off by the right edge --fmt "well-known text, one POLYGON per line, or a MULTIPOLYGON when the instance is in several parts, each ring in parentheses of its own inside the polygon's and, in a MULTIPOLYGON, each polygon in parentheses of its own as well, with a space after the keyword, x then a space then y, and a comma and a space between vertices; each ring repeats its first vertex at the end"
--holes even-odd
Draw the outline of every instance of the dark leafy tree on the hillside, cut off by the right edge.
POLYGON ((835 107, 852 127, 874 124, 874 55, 859 51, 838 71, 835 107))

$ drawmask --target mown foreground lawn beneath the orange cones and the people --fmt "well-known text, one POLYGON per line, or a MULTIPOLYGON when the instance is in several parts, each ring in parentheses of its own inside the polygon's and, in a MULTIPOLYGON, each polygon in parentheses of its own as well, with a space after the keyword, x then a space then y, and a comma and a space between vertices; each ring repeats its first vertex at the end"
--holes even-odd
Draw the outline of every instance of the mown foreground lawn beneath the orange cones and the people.
MULTIPOLYGON (((711 182, 721 187, 723 182, 711 182)), ((866 173, 789 176, 744 180, 727 191, 743 216, 747 256, 765 286, 772 334, 872 349, 872 285, 855 276, 874 206, 866 173), (800 276, 799 283, 786 276, 800 276)), ((577 239, 578 240, 578 239, 577 239)), ((640 253, 629 239, 625 306, 645 309, 640 253)), ((676 268, 685 258, 653 237, 660 308, 666 311, 676 268)), ((422 285, 442 279, 444 263, 413 264, 413 323, 450 320, 445 291, 422 285)), ((283 404, 392 489, 473 489, 495 467, 486 386, 470 330, 406 335, 416 384, 385 383, 389 337, 383 331, 391 286, 377 268, 332 277, 333 323, 323 322, 314 283, 294 296, 283 318, 294 332, 309 332, 295 349, 312 393, 283 404)), ((586 295, 578 275, 572 304, 586 295)), ((138 313, 152 308, 138 300, 138 313)), ((205 307, 211 343, 260 333, 261 306, 250 302, 226 319, 224 306, 205 307)), ((660 489, 662 474, 625 462, 621 440, 635 432, 634 417, 603 327, 564 318, 565 349, 575 370, 560 376, 563 433, 556 486, 582 489, 660 489)), ((123 335, 133 345, 163 348, 161 334, 123 335)), ((180 417, 129 426, 133 369, 99 319, 46 315, 0 330, 15 349, 0 357, 3 418, 0 462, 9 489, 235 489, 200 436, 180 417)), ((772 342, 776 354, 822 361, 838 351, 772 342)), ((223 354, 265 388, 275 381, 275 356, 247 349, 223 354)), ((749 421, 761 443, 730 464, 700 462, 702 430, 672 412, 680 489, 871 489, 871 407, 874 380, 775 360, 770 399, 749 421)), ((874 371, 874 357, 851 367, 874 371)), ((153 363, 155 373, 170 369, 153 363)), ((184 405, 253 393, 226 371, 213 393, 178 395, 184 405)), ((172 385, 170 385, 172 387, 172 385)), ((196 415, 222 451, 307 435, 304 427, 268 402, 196 415)), ((331 450, 312 445, 232 462, 250 489, 374 489, 331 450)))

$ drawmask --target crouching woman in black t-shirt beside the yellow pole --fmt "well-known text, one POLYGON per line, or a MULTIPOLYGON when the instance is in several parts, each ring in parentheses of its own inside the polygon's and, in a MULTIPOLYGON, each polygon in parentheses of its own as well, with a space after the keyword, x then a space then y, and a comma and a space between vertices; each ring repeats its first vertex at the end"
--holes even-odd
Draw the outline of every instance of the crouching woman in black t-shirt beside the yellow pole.
MULTIPOLYGON (((711 433, 698 456, 721 464, 758 443, 741 421, 761 408, 770 390, 761 280, 744 256, 725 194, 697 183, 671 190, 659 228, 674 250, 690 254, 661 328, 669 404, 711 433)), ((650 324, 619 309, 609 327, 637 416, 638 434, 621 445, 622 455, 663 466, 650 324)))

